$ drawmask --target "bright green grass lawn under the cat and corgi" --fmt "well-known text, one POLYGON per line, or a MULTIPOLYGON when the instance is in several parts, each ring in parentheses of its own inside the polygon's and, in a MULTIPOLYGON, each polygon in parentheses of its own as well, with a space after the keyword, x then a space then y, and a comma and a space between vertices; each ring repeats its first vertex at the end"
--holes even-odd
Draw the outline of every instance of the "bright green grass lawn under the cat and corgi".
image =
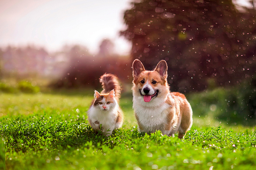
MULTIPOLYGON (((132 96, 122 96, 123 128, 104 137, 87 121, 93 91, 0 94, 0 169, 255 169, 255 126, 216 124, 221 120, 195 113, 182 140, 141 134, 132 96)), ((203 109, 192 97, 191 103, 203 109)))

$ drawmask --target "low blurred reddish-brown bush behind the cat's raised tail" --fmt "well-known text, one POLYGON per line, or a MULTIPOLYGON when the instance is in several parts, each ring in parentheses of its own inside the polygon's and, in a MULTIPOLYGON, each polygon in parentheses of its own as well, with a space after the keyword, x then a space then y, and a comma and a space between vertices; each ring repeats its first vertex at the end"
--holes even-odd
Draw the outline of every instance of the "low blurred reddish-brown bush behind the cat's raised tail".
POLYGON ((123 56, 74 57, 63 76, 53 81, 53 88, 100 88, 99 77, 104 73, 115 74, 122 83, 131 83, 132 61, 123 56))

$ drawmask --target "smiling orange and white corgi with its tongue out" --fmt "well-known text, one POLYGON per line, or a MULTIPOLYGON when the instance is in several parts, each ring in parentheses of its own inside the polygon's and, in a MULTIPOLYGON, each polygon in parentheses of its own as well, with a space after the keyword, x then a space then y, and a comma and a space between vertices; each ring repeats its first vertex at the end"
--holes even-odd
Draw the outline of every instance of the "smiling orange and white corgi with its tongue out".
POLYGON ((161 60, 153 71, 145 70, 136 59, 133 68, 133 109, 139 131, 183 138, 192 126, 192 109, 186 97, 170 92, 167 83, 167 63, 161 60))

